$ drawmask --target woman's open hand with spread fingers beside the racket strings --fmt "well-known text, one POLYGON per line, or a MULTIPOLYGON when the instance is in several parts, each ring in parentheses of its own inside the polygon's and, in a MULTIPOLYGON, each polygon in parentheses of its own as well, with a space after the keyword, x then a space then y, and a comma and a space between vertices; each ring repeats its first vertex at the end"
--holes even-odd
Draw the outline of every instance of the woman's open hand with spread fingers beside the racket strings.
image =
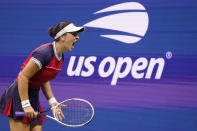
POLYGON ((57 106, 59 103, 53 103, 51 104, 51 108, 52 108, 52 112, 53 112, 53 116, 59 121, 62 121, 62 119, 65 119, 64 114, 62 113, 61 108, 62 107, 66 107, 66 105, 62 105, 60 104, 57 108, 54 108, 55 106, 57 106))

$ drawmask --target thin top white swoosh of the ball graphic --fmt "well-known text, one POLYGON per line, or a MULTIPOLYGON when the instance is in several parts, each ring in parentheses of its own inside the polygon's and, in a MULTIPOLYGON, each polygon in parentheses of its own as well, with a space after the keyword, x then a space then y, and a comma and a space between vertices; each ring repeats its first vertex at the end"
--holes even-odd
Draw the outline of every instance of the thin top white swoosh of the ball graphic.
POLYGON ((94 14, 118 10, 145 10, 145 8, 137 2, 126 2, 107 7, 105 9, 95 12, 94 14))

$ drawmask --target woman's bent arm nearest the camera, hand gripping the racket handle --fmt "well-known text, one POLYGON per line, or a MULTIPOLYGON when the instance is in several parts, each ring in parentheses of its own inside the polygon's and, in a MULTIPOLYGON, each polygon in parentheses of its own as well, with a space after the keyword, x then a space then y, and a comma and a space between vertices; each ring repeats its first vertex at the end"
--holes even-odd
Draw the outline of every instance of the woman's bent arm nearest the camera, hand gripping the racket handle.
MULTIPOLYGON (((28 101, 28 81, 29 79, 39 70, 39 67, 33 62, 29 61, 25 68, 19 73, 18 76, 18 91, 21 102, 28 101)), ((23 107, 25 115, 27 117, 36 117, 37 113, 31 107, 31 105, 27 105, 23 107)))

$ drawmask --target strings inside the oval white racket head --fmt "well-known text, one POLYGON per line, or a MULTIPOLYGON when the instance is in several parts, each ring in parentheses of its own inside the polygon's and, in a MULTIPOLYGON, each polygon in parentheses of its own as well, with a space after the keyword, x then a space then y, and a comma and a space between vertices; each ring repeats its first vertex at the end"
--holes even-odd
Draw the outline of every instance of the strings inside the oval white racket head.
POLYGON ((92 109, 88 103, 83 101, 69 101, 65 105, 67 106, 61 108, 65 116, 65 119, 62 120, 63 123, 80 125, 91 119, 92 109))

